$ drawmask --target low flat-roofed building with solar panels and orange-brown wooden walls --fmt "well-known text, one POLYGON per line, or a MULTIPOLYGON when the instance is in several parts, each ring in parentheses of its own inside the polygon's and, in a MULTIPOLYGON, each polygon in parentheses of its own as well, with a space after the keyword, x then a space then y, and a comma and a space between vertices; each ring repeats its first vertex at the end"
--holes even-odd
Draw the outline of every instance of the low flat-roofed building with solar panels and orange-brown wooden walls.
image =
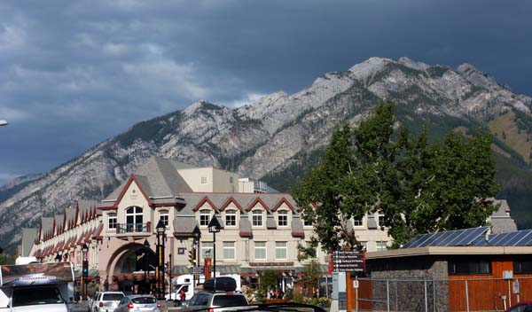
MULTIPOLYGON (((502 310, 532 300, 532 230, 491 229, 422 234, 399 249, 367 253, 371 282, 361 281, 359 292, 391 298, 402 311, 502 310)), ((372 306, 364 308, 386 304, 365 301, 372 306)))

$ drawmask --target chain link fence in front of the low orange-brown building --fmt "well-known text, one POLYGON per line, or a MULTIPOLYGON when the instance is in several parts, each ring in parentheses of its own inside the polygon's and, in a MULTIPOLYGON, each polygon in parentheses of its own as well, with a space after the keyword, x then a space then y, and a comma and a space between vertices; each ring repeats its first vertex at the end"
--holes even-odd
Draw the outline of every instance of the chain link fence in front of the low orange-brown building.
POLYGON ((356 311, 504 311, 532 300, 532 277, 512 279, 358 279, 356 311))

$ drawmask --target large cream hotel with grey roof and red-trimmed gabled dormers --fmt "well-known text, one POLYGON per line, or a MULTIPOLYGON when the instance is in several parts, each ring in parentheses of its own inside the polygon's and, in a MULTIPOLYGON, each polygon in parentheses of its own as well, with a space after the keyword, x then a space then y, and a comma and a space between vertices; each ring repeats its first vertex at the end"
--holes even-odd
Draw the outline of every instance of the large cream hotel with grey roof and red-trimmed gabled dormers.
MULTIPOLYGON (((216 271, 253 279, 261 270, 276 269, 284 285, 302 272, 307 261, 298 260, 298 246, 312 236, 290 194, 265 183, 240 178, 217 168, 195 168, 152 157, 106 199, 78 200, 64 214, 42 217, 37 229, 22 230, 20 255, 42 261, 71 261, 79 271, 81 246, 89 246, 90 277, 99 287, 119 280, 128 285, 144 274, 138 252, 149 244, 156 265, 155 225, 166 225, 165 261, 172 276, 192 273, 189 252, 192 230, 201 231, 200 265, 212 257, 213 235, 207 224, 216 215, 222 230, 216 234, 216 271), (170 263, 171 261, 171 263, 170 263)), ((368 214, 348 224, 368 251, 384 250, 390 238, 380 230, 379 214, 368 214)), ((329 257, 317 250, 317 261, 327 272, 329 257)), ((148 269, 149 270, 149 269, 148 269)))

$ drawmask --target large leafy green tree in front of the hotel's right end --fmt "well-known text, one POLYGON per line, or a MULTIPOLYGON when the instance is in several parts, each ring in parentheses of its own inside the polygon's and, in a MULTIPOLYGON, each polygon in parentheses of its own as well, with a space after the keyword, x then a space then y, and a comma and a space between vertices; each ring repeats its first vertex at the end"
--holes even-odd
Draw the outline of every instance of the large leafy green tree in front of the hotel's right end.
POLYGON ((426 131, 396 128, 395 105, 380 102, 358 127, 335 129, 323 158, 293 197, 313 222, 313 242, 322 248, 356 248, 349 219, 384 213, 395 246, 418 233, 455 230, 485 223, 496 207, 498 186, 491 136, 450 132, 429 143, 426 131))

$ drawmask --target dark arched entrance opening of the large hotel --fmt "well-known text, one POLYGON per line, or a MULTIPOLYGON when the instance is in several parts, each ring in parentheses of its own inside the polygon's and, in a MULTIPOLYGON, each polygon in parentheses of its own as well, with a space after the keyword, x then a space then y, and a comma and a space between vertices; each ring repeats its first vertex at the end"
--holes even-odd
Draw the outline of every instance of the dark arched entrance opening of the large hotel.
POLYGON ((155 267, 157 255, 151 248, 145 248, 140 244, 122 246, 115 253, 110 271, 110 291, 126 293, 149 293, 155 283, 155 267))

